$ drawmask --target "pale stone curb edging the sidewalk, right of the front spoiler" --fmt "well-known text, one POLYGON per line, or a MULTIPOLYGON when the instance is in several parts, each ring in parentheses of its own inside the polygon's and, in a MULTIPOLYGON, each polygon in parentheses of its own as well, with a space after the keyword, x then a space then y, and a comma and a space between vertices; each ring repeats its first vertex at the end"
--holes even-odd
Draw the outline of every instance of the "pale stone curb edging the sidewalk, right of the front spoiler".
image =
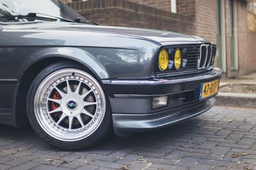
POLYGON ((216 106, 256 108, 256 94, 219 92, 215 99, 216 106))

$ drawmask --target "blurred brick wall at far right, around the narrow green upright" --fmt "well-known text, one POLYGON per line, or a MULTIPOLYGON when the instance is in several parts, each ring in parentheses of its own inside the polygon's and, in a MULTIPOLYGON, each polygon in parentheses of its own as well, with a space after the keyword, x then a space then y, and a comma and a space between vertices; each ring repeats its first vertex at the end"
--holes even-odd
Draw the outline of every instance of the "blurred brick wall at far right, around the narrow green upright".
POLYGON ((248 29, 246 1, 237 2, 237 39, 238 39, 238 70, 231 67, 230 48, 230 1, 225 0, 225 34, 226 34, 226 66, 227 77, 236 77, 256 71, 256 32, 248 29))

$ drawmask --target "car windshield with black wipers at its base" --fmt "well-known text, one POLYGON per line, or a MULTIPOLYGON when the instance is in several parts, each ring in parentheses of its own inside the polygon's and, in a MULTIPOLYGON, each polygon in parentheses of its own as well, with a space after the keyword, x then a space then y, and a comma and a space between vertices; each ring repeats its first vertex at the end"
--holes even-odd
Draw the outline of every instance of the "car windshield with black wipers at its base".
MULTIPOLYGON (((47 21, 47 18, 54 17, 67 20, 79 18, 81 22, 86 22, 85 18, 59 0, 0 0, 0 22, 47 21), (31 20, 29 13, 36 13, 36 17, 31 20)), ((49 19, 48 21, 56 20, 49 19)))

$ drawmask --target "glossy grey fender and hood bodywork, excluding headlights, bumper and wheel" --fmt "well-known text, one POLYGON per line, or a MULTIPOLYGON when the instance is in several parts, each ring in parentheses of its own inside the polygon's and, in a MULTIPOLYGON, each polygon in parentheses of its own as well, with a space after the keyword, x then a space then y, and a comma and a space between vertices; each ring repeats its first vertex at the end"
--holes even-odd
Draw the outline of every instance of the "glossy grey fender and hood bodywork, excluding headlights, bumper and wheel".
POLYGON ((77 61, 102 81, 143 80, 156 76, 154 62, 162 46, 201 43, 210 42, 173 32, 125 27, 0 23, 0 123, 19 124, 21 113, 16 101, 22 78, 42 60, 77 61))

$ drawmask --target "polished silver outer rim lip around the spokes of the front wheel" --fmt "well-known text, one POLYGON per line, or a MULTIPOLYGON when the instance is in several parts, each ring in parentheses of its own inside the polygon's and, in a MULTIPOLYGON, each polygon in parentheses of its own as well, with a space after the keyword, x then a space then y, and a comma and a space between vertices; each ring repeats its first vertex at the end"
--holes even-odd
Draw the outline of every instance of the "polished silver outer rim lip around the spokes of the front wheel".
MULTIPOLYGON (((51 83, 51 85, 52 85, 51 83)), ((97 97, 97 95, 95 94, 95 97, 97 97)), ((51 136, 51 138, 57 139, 59 141, 65 141, 65 142, 76 142, 76 141, 81 141, 85 138, 90 137, 95 131, 97 131, 100 127, 100 125, 102 125, 102 122, 104 120, 104 117, 106 115, 106 97, 104 94, 104 90, 102 89, 102 87, 100 86, 99 82, 97 80, 95 80, 95 78, 93 78, 93 76, 91 76, 90 74, 81 71, 79 69, 74 69, 74 68, 67 68, 67 69, 60 69, 58 71, 54 71, 53 73, 49 74, 46 78, 44 78, 44 80, 40 83, 40 85, 37 87, 36 89, 36 93, 35 93, 35 98, 34 98, 34 111, 35 111, 35 117, 36 120, 38 122, 38 124, 40 125, 40 128, 46 132, 49 136, 51 136), (58 136, 58 134, 54 134, 54 132, 52 132, 52 129, 49 128, 49 125, 46 124, 45 126, 45 118, 42 122, 42 120, 40 120, 40 117, 44 117, 44 111, 42 109, 42 105, 43 103, 38 103, 38 101, 42 100, 42 96, 45 96, 45 93, 48 91, 49 87, 47 87, 46 85, 49 84, 49 82, 55 78, 53 81, 51 81, 52 83, 55 82, 56 80, 59 80, 61 77, 64 76, 60 76, 61 74, 68 74, 67 76, 72 76, 72 73, 76 73, 79 74, 79 76, 82 76, 86 81, 92 83, 93 87, 95 87, 95 90, 93 90, 93 93, 98 92, 99 96, 100 96, 100 107, 101 109, 99 110, 99 119, 97 120, 96 124, 93 125, 92 127, 88 128, 88 132, 86 131, 83 132, 83 136, 79 135, 76 137, 75 134, 69 134, 70 136, 72 136, 73 138, 71 139, 67 139, 67 138, 63 138, 61 136, 58 136), (45 92, 42 92, 42 90, 44 90, 47 87, 47 90, 45 92), (42 94, 43 95, 40 95, 42 94), (38 106, 39 105, 39 106, 38 106), (76 138, 75 138, 76 137, 76 138)), ((98 110, 98 106, 97 109, 98 110)), ((98 113, 98 111, 96 111, 96 113, 98 113)), ((96 114, 95 113, 95 114, 96 114)), ((92 120, 91 120, 92 121, 92 120)))

